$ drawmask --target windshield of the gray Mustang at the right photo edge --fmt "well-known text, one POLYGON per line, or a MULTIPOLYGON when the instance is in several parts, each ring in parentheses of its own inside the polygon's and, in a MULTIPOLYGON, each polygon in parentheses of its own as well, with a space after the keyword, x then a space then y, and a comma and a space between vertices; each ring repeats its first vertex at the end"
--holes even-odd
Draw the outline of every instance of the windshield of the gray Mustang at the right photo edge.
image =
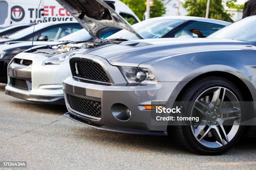
POLYGON ((213 33, 207 38, 256 42, 255 25, 256 16, 248 17, 243 20, 239 20, 236 23, 228 25, 227 27, 213 33))

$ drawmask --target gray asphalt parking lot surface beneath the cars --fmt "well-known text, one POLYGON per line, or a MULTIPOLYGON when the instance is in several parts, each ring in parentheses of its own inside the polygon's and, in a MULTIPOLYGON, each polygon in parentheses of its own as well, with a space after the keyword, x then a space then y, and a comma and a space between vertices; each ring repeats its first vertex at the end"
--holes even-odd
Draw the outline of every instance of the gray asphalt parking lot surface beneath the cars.
MULTIPOLYGON (((220 156, 201 156, 172 138, 95 130, 63 116, 64 106, 4 94, 0 84, 0 161, 27 169, 256 169, 256 139, 241 140, 220 156)), ((10 169, 10 168, 9 168, 10 169)))

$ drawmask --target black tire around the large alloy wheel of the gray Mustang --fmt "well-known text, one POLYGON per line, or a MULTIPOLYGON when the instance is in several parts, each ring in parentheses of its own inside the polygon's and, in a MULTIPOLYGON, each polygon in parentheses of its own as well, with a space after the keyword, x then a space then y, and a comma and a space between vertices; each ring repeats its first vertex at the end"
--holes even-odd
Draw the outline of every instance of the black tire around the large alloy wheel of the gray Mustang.
MULTIPOLYGON (((215 76, 204 77, 193 81, 186 87, 186 89, 182 90, 182 93, 177 98, 177 101, 195 101, 202 92, 208 88, 216 86, 229 89, 233 92, 233 94, 236 95, 239 101, 244 101, 244 97, 236 85, 225 78, 215 76)), ((186 103, 186 107, 191 110, 192 102, 186 103)), ((243 112, 244 109, 241 107, 241 116, 243 116, 243 112)), ((238 142, 243 133, 243 129, 244 127, 240 125, 235 137, 228 144, 219 148, 207 148, 195 139, 190 126, 177 125, 169 127, 169 130, 171 131, 170 133, 174 135, 174 138, 182 147, 200 155, 220 155, 227 152, 238 142)))

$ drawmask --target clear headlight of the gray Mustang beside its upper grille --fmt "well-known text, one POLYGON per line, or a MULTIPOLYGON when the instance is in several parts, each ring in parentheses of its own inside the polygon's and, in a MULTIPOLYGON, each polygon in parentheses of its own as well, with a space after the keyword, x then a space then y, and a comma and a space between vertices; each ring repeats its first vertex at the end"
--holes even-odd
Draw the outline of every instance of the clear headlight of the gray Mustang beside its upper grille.
POLYGON ((157 84, 156 77, 148 68, 120 66, 128 83, 157 84))

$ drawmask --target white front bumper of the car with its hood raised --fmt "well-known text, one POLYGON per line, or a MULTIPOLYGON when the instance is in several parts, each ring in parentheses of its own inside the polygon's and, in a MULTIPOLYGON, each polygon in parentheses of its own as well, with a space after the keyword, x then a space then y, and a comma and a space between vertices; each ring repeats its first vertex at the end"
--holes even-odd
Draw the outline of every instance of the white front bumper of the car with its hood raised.
POLYGON ((45 65, 48 57, 33 53, 20 53, 8 66, 6 94, 23 100, 64 105, 62 80, 71 74, 69 60, 60 65, 45 65), (32 60, 32 65, 21 65, 14 60, 32 60), (11 84, 11 78, 26 80, 29 89, 24 90, 11 84))

